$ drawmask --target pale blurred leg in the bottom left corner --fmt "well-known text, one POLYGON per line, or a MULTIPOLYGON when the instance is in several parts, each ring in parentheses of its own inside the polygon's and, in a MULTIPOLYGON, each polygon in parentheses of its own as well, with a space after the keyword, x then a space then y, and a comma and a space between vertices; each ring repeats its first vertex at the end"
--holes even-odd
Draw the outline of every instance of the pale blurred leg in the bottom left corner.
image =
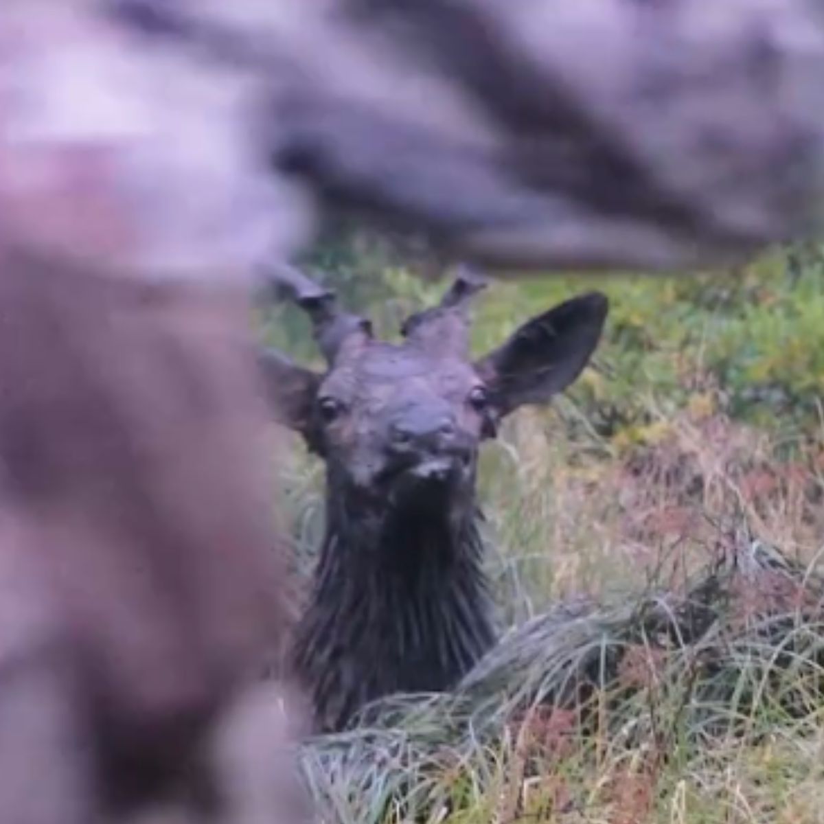
POLYGON ((35 541, 24 520, 0 514, 0 818, 98 824, 71 648, 35 541))

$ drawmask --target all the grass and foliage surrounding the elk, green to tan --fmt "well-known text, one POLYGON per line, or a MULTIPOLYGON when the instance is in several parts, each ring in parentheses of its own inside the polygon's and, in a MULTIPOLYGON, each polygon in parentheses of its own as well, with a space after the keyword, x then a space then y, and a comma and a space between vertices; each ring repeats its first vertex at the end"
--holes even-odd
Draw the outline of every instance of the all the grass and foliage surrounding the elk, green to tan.
MULTIPOLYGON (((442 289, 379 268, 379 329, 442 289)), ((452 693, 305 742, 323 821, 824 822, 822 272, 808 247, 596 281, 597 363, 482 457, 501 643, 452 693)), ((582 288, 490 289, 475 348, 582 288)), ((270 339, 311 358, 296 324, 270 339)), ((282 470, 308 574, 321 467, 282 470)))

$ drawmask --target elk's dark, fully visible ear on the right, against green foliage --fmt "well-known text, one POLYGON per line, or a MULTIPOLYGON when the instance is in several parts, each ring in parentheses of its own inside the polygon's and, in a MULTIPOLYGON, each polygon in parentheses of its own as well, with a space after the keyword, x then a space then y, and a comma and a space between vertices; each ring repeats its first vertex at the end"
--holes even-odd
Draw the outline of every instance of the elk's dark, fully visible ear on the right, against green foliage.
POLYGON ((475 367, 500 417, 524 404, 541 404, 581 374, 606 320, 606 296, 574 297, 522 325, 475 367))

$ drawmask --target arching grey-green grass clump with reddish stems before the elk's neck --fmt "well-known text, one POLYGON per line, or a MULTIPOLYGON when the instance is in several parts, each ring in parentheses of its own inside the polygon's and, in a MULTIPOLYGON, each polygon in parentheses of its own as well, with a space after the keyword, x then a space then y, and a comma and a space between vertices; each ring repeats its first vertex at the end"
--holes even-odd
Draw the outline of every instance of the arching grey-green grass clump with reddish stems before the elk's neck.
POLYGON ((556 606, 455 691, 382 700, 307 742, 307 782, 340 822, 513 820, 536 804, 651 815, 710 742, 738 752, 817 719, 822 597, 811 570, 750 541, 681 594, 556 606))

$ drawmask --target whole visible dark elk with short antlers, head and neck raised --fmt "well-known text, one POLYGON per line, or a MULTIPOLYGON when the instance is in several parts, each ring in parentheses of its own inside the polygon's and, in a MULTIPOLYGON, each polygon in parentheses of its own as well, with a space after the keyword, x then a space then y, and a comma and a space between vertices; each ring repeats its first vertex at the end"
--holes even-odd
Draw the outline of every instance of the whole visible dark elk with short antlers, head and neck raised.
POLYGON ((326 464, 326 529, 292 664, 316 728, 339 730, 372 700, 443 691, 495 643, 475 478, 480 445, 519 406, 578 377, 607 301, 588 293, 522 325, 472 361, 469 270, 404 340, 375 339, 364 318, 293 269, 280 290, 307 311, 325 374, 261 352, 276 419, 326 464))

